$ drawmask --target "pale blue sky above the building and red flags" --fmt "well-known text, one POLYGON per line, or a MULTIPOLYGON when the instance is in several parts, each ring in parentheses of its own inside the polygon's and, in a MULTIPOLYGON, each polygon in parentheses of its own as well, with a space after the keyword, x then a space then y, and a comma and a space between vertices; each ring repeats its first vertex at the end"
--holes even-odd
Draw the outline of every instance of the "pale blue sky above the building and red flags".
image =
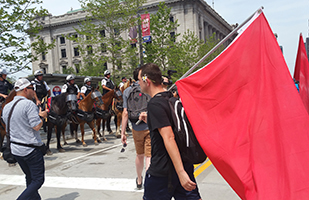
MULTIPOLYGON (((293 73, 299 34, 308 37, 309 0, 206 0, 230 24, 241 24, 261 6, 283 54, 290 72, 293 73)), ((42 6, 56 16, 80 8, 78 0, 43 0, 42 6)), ((254 45, 254 41, 252 41, 254 45)))

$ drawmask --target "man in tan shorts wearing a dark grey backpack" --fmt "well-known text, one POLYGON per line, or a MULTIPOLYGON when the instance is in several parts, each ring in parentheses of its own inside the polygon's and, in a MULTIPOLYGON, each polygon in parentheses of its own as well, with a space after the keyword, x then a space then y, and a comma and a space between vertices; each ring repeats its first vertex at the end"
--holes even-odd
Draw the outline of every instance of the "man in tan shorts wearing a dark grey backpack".
MULTIPOLYGON (((137 80, 138 68, 133 72, 133 78, 137 80)), ((125 145, 127 143, 127 137, 125 135, 128 119, 132 124, 132 135, 135 144, 136 158, 136 187, 142 189, 143 186, 143 168, 145 159, 145 171, 147 171, 150 165, 151 157, 151 141, 149 135, 149 129, 146 123, 141 122, 136 125, 139 113, 147 111, 147 103, 150 97, 141 92, 138 82, 133 83, 123 92, 123 112, 122 112, 122 128, 121 128, 121 141, 125 145)))

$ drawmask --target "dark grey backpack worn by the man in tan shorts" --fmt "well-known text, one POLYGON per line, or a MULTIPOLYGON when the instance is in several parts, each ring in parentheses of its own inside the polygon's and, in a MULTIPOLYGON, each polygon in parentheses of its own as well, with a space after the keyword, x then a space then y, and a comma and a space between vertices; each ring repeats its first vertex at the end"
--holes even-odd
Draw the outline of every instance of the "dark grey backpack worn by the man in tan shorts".
POLYGON ((150 100, 150 96, 142 93, 139 84, 135 84, 132 86, 127 100, 129 120, 132 123, 136 123, 140 113, 147 111, 147 104, 150 100))

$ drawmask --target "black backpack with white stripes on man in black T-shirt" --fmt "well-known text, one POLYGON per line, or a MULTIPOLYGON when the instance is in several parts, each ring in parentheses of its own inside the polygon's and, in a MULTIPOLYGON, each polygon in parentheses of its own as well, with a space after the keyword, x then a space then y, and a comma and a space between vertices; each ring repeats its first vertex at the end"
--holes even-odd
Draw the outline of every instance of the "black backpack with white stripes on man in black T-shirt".
POLYGON ((168 101, 172 112, 172 128, 182 161, 190 164, 204 162, 207 156, 195 137, 181 101, 175 97, 170 97, 168 101))

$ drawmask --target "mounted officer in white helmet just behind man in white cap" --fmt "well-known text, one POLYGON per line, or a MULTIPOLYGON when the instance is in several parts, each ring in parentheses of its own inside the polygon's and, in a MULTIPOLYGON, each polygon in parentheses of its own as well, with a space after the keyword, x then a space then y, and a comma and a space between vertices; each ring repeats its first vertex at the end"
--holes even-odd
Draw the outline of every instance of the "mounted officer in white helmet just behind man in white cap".
POLYGON ((50 88, 47 83, 43 81, 43 71, 36 70, 34 72, 35 79, 31 81, 31 84, 34 87, 35 95, 34 98, 36 100, 36 104, 40 105, 43 98, 46 96, 51 96, 50 88))

